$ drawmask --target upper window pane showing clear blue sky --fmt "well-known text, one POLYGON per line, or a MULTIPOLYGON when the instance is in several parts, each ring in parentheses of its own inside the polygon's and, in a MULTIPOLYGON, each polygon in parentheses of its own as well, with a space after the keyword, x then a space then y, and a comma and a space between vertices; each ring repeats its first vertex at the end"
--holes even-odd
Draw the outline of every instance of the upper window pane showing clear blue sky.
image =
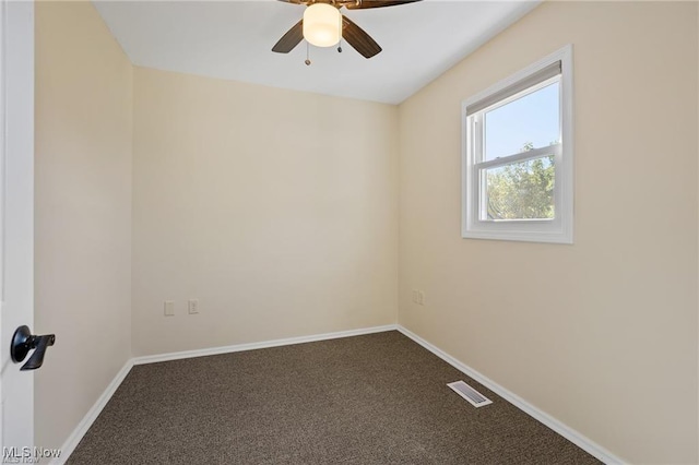
POLYGON ((555 82, 484 115, 484 160, 560 142, 559 83, 555 82))

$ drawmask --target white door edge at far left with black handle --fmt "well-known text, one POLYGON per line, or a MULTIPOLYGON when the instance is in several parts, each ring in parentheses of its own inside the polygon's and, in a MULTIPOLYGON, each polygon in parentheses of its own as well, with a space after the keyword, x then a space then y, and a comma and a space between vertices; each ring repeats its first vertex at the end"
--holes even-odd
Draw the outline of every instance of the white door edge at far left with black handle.
POLYGON ((34 374, 9 353, 34 323, 34 2, 0 0, 0 445, 33 448, 34 374))

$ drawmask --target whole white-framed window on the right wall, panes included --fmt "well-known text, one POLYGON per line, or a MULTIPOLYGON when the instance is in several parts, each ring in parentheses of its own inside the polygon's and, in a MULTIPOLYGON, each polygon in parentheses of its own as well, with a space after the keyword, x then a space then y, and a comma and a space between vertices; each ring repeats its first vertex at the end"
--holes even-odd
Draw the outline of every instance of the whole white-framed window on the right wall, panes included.
POLYGON ((572 243, 572 47, 463 103, 462 236, 572 243))

